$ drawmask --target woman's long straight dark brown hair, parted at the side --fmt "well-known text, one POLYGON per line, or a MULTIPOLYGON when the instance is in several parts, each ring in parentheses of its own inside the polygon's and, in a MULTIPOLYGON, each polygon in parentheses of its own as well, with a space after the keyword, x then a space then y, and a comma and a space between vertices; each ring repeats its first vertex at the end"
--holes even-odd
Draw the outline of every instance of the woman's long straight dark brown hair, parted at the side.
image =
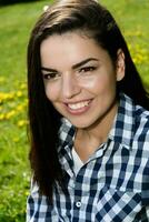
POLYGON ((118 49, 125 53, 126 73, 118 91, 136 104, 149 109, 148 93, 129 53, 127 43, 111 13, 95 0, 60 0, 37 21, 28 44, 28 97, 30 122, 30 163, 39 191, 52 200, 53 184, 61 185, 62 170, 58 158, 61 115, 44 93, 41 75, 40 44, 52 34, 81 31, 95 39, 116 62, 118 49))

